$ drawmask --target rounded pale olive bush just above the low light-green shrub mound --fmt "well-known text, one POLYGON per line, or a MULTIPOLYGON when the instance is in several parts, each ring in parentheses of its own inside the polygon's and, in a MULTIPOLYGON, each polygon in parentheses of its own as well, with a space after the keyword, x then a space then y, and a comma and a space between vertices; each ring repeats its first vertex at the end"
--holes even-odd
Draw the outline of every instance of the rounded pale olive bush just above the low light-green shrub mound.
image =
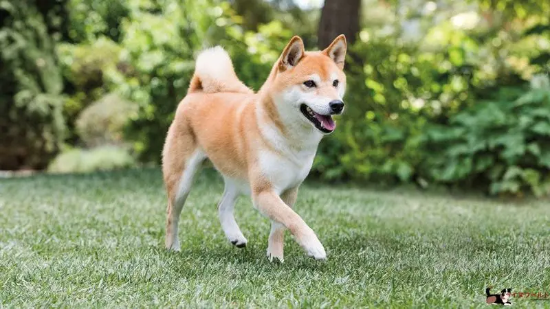
POLYGON ((90 104, 76 120, 76 131, 87 147, 123 145, 123 130, 137 105, 116 94, 90 104))

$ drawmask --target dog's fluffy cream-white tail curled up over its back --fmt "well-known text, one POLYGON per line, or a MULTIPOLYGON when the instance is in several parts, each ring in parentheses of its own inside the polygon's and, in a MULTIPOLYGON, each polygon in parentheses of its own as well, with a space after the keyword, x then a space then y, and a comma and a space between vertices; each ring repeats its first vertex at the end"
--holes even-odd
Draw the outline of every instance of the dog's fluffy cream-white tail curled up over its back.
POLYGON ((253 93, 236 77, 229 54, 220 46, 206 49, 197 57, 187 92, 199 91, 253 93))

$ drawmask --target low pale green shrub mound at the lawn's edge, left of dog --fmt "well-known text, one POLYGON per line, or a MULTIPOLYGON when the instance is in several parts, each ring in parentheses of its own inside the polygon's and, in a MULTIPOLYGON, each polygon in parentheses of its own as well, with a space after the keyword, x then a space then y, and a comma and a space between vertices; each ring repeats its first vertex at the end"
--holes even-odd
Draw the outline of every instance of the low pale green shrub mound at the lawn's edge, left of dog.
POLYGON ((48 168, 54 173, 85 173, 132 168, 135 159, 126 148, 101 146, 91 149, 72 149, 58 155, 48 168))

